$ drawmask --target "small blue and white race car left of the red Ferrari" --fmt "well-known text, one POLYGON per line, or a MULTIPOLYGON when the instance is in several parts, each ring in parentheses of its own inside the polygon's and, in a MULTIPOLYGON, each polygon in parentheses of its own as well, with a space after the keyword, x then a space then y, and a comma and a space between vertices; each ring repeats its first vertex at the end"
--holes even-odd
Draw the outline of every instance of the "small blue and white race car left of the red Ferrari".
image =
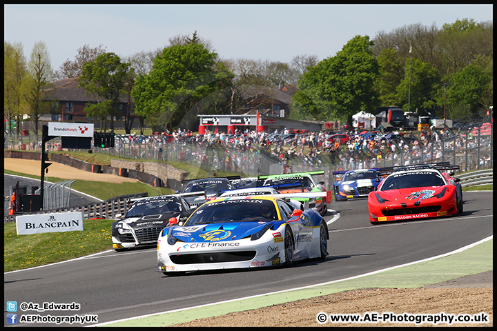
POLYGON ((341 175, 333 184, 335 201, 346 201, 358 197, 367 197, 369 192, 378 188, 378 168, 348 171, 334 171, 333 174, 341 175))

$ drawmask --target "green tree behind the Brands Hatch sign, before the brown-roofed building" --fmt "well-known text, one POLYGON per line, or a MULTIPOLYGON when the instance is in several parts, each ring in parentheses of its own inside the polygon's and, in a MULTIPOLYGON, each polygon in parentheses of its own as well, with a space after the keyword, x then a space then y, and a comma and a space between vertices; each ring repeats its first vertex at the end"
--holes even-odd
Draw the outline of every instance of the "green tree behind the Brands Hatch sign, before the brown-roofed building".
POLYGON ((104 130, 108 116, 110 129, 114 130, 114 117, 119 112, 117 104, 121 101, 127 84, 132 83, 132 71, 130 63, 121 63, 121 59, 113 52, 100 54, 95 61, 87 62, 83 66, 78 79, 79 86, 84 88, 87 94, 97 96, 97 103, 86 105, 86 114, 104 119, 104 130))

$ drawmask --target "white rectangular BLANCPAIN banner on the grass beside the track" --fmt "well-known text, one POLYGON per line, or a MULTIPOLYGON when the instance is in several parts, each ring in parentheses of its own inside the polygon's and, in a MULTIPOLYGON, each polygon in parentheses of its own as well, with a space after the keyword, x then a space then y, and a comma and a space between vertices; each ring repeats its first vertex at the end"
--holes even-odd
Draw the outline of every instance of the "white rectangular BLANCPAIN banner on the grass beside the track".
POLYGON ((16 228, 17 234, 83 231, 83 212, 17 216, 16 228))

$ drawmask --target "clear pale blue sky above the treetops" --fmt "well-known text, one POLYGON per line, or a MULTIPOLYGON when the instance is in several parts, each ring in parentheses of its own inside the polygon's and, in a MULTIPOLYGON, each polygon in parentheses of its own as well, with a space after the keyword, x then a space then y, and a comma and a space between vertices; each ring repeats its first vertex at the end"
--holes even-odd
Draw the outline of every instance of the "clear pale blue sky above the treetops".
POLYGON ((491 4, 409 5, 3 5, 4 41, 21 43, 29 60, 46 44, 52 69, 73 61, 85 45, 119 57, 156 50, 193 32, 222 59, 290 63, 298 55, 333 57, 356 35, 457 19, 493 21, 491 4))

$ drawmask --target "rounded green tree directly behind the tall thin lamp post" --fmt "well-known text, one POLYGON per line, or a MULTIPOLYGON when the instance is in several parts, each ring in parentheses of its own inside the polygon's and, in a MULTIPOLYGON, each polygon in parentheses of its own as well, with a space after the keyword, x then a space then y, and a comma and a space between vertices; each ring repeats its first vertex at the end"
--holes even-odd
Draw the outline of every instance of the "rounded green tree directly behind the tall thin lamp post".
POLYGON ((416 109, 431 109, 435 104, 434 97, 440 86, 440 75, 430 63, 420 59, 411 60, 411 78, 409 83, 409 59, 405 64, 405 78, 400 82, 397 93, 405 111, 416 112, 416 109), (409 85, 411 89, 409 97, 409 85))

